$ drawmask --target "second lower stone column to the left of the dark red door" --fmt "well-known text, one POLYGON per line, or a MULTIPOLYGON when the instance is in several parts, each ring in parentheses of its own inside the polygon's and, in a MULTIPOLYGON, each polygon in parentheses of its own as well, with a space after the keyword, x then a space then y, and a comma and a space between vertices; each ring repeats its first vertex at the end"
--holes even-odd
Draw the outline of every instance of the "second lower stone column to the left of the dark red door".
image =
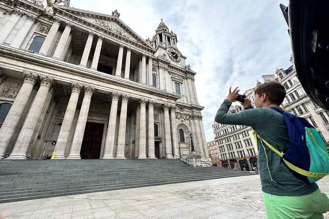
POLYGON ((63 118, 62 125, 60 127, 60 134, 57 138, 57 143, 55 147, 55 159, 64 159, 65 158, 65 147, 67 145, 68 137, 72 128, 73 118, 75 110, 77 108, 79 94, 82 89, 82 86, 79 84, 71 84, 72 93, 70 100, 68 101, 65 115, 63 118))

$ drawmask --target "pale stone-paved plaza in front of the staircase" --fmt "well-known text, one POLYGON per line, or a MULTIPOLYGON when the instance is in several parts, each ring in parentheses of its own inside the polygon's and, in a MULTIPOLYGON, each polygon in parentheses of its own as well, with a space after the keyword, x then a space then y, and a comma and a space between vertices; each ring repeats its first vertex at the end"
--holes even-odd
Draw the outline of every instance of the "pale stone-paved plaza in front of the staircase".
MULTIPOLYGON (((329 177, 318 184, 329 194, 329 177)), ((266 218, 259 175, 2 203, 0 212, 4 219, 266 218)))

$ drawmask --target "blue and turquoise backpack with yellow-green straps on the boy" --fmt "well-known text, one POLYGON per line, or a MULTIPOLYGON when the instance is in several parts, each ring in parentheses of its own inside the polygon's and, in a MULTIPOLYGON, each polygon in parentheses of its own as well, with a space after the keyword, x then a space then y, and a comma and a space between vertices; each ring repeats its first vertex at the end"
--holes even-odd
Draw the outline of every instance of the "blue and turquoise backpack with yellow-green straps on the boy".
MULTIPOLYGON (((281 114, 287 125, 289 148, 279 152, 256 132, 254 137, 257 145, 259 138, 292 170, 292 173, 306 183, 313 183, 329 174, 329 154, 327 148, 315 128, 306 119, 277 107, 271 107, 281 114)), ((263 145, 264 147, 264 145, 263 145)), ((265 150, 265 147, 264 147, 265 150)), ((265 151, 266 153, 266 151, 265 151)))

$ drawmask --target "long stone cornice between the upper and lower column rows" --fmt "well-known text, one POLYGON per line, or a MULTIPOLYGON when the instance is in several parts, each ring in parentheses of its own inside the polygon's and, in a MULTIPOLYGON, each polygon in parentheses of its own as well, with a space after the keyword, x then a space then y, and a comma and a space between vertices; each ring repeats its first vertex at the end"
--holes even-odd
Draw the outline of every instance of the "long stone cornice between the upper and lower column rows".
MULTIPOLYGON (((142 91, 145 93, 148 93, 150 95, 154 96, 159 96, 162 99, 167 98, 168 100, 172 101, 177 101, 179 99, 179 95, 174 94, 174 93, 169 93, 165 92, 163 90, 159 90, 157 88, 154 88, 149 85, 141 84, 138 82, 132 82, 132 81, 127 81, 112 75, 106 75, 104 73, 100 73, 91 69, 87 69, 78 65, 70 64, 67 62, 55 60, 54 58, 39 55, 39 54, 34 54, 30 53, 24 50, 19 50, 12 48, 10 46, 6 46, 3 44, 0 44, 0 57, 6 57, 10 58, 11 60, 15 60, 18 63, 15 65, 18 67, 18 69, 24 68, 25 63, 28 64, 33 64, 35 66, 40 66, 40 67, 47 67, 48 69, 54 70, 54 71, 60 71, 63 74, 69 74, 72 76, 77 76, 77 77, 84 77, 86 80, 87 79, 92 79, 95 82, 107 82, 108 84, 114 84, 114 85, 119 85, 122 88, 126 88, 131 90, 132 94, 134 93, 133 91, 142 91), (21 63, 20 63, 21 62, 21 63)), ((26 69, 26 71, 35 71, 34 69, 26 69)), ((42 71, 36 72, 36 74, 42 75, 42 71)), ((48 72, 44 72, 44 74, 49 74, 48 72)), ((58 81, 71 81, 72 78, 60 78, 62 76, 59 75, 52 75, 52 78, 58 81), (60 76, 60 77, 59 77, 60 76)), ((73 82, 72 83, 81 83, 79 81, 73 82)), ((91 84, 92 86, 97 86, 97 84, 91 84)), ((112 90, 110 86, 108 87, 100 87, 97 86, 98 89, 104 90, 104 91, 109 91, 109 92, 116 92, 115 90, 112 90)), ((139 96, 131 96, 132 98, 137 98, 140 99, 139 96)), ((148 97, 146 97, 148 98, 148 97)), ((158 100, 155 100, 157 103, 161 103, 158 100)), ((162 102, 164 103, 164 102, 162 102)))

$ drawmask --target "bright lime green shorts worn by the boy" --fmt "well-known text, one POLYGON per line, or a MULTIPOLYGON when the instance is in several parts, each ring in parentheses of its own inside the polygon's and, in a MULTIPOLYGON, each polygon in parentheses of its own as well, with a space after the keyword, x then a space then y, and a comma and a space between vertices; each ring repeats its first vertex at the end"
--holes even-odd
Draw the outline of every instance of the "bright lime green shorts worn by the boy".
POLYGON ((317 189, 301 196, 279 196, 263 192, 268 219, 323 219, 329 211, 327 195, 317 189))

